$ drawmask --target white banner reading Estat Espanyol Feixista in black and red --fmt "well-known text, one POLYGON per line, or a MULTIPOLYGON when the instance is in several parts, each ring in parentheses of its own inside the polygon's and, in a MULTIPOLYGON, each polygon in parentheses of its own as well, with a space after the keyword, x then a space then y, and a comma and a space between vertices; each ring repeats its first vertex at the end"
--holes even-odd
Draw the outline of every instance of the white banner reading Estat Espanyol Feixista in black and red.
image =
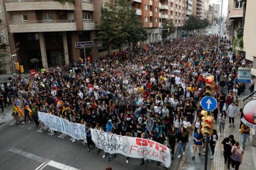
POLYGON ((108 153, 120 153, 130 158, 146 158, 160 161, 167 168, 171 166, 171 152, 168 147, 153 140, 126 137, 91 129, 96 147, 108 153))

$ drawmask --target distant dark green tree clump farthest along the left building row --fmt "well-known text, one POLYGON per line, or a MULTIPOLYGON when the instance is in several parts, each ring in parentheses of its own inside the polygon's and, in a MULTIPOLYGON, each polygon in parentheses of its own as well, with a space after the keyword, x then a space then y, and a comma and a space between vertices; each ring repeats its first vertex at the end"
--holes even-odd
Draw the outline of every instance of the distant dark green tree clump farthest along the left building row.
POLYGON ((205 28, 208 25, 210 25, 210 22, 207 18, 204 18, 203 20, 199 17, 195 17, 194 15, 191 15, 188 20, 186 20, 186 23, 184 24, 183 28, 184 30, 190 31, 190 30, 198 30, 200 28, 205 28))

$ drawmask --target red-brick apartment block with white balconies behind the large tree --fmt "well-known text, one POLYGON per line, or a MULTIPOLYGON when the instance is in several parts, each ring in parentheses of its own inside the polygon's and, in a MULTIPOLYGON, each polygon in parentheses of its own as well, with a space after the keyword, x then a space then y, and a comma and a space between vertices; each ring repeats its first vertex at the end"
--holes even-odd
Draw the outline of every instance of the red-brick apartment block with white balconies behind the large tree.
POLYGON ((148 30, 149 42, 160 41, 161 23, 171 20, 176 26, 176 33, 172 38, 181 36, 181 27, 186 20, 186 0, 132 0, 132 6, 137 10, 137 15, 143 26, 148 30))

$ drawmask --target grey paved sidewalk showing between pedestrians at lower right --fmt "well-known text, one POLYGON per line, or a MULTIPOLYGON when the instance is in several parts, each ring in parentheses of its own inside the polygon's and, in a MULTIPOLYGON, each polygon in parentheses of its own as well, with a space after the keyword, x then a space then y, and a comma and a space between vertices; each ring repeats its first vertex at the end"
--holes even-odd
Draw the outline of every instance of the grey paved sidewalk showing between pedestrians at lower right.
MULTIPOLYGON (((226 91, 226 89, 225 89, 226 91)), ((242 104, 242 99, 244 99, 244 97, 246 95, 249 95, 249 90, 248 87, 245 90, 245 92, 243 94, 241 94, 240 98, 240 103, 239 103, 239 107, 238 110, 240 110, 241 107, 244 107, 244 105, 242 104)), ((224 107, 225 108, 225 107, 224 107)), ((215 147, 215 154, 214 154, 214 158, 213 160, 211 160, 210 155, 211 155, 211 150, 210 150, 210 145, 208 147, 208 168, 207 169, 211 169, 211 170, 227 170, 227 166, 224 164, 224 156, 223 156, 223 151, 221 148, 221 142, 223 141, 223 139, 225 137, 228 137, 230 134, 234 135, 234 139, 239 142, 240 144, 242 143, 241 140, 241 134, 239 132, 239 124, 240 124, 240 117, 239 115, 237 115, 237 117, 235 118, 235 127, 228 127, 229 123, 228 123, 228 119, 226 120, 226 124, 225 124, 225 128, 224 128, 224 134, 222 137, 220 137, 219 134, 219 120, 217 121, 217 124, 214 124, 214 128, 217 130, 218 132, 218 136, 219 136, 219 140, 216 144, 215 147)), ((254 134, 255 129, 251 130, 251 134, 254 134)), ((242 161, 242 164, 240 165, 239 169, 256 169, 256 147, 253 147, 251 144, 252 141, 252 136, 250 136, 250 139, 247 139, 246 142, 246 148, 244 150, 244 158, 242 161)), ((192 153, 193 153, 193 145, 194 145, 194 140, 192 139, 192 137, 189 137, 189 143, 187 144, 186 147, 186 155, 183 155, 181 158, 181 161, 179 162, 179 167, 178 169, 204 169, 204 163, 205 163, 205 156, 203 156, 203 148, 201 151, 201 155, 202 156, 198 156, 198 150, 195 154, 195 160, 192 161, 192 153)))

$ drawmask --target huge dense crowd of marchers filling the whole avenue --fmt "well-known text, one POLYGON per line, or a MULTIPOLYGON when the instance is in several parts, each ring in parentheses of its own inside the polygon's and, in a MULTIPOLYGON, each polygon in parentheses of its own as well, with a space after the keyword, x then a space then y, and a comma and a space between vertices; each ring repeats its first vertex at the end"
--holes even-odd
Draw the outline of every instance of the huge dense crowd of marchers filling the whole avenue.
MULTIPOLYGON (((226 37, 220 39, 218 51, 218 39, 218 35, 211 34, 164 40, 163 44, 154 42, 135 47, 129 55, 124 51, 92 62, 79 60, 41 69, 33 77, 13 78, 9 86, 1 89, 0 107, 4 111, 6 105, 13 105, 16 123, 25 124, 33 119, 36 126, 45 127, 38 121, 38 111, 42 111, 85 124, 88 152, 93 146, 90 128, 154 140, 171 149, 171 160, 186 154, 192 136, 194 160, 195 156, 201 156, 205 146, 200 130, 200 100, 205 97, 205 76, 213 75, 213 97, 218 107, 211 115, 220 127, 210 136, 211 159, 225 123, 229 123, 229 128, 241 126, 241 144, 232 134, 220 141, 228 169, 231 166, 238 169, 250 128, 234 124, 234 118, 242 115, 237 106, 245 90, 244 84, 237 83, 237 70, 249 63, 244 55, 233 54, 226 37), (232 61, 229 53, 233 54, 232 61), (24 119, 20 119, 19 110, 24 119), (176 145, 179 156, 174 158, 176 145)), ((254 79, 251 89, 253 84, 254 79)), ((102 156, 105 158, 106 153, 102 156)), ((115 156, 109 154, 108 161, 115 156)), ((145 161, 142 159, 141 165, 145 161)))

